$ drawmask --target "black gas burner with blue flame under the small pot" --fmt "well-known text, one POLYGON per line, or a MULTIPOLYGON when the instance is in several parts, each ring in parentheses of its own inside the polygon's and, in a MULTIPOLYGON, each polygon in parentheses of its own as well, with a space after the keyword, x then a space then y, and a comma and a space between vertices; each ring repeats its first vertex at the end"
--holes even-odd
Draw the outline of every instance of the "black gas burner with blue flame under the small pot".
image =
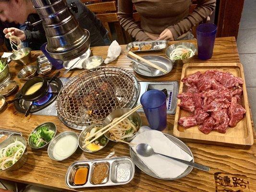
MULTIPOLYGON (((45 78, 46 80, 50 80, 50 77, 45 78)), ((37 112, 39 110, 42 110, 46 107, 48 107, 50 104, 52 104, 57 96, 58 93, 60 92, 62 87, 62 82, 59 78, 55 77, 53 78, 52 82, 49 84, 49 90, 48 90, 48 94, 46 94, 45 96, 43 96, 40 100, 38 100, 37 102, 35 101, 26 101, 24 99, 20 99, 19 101, 15 101, 14 102, 14 108, 20 112, 25 114, 26 111, 29 109, 30 106, 32 106, 32 108, 30 109, 29 113, 34 113, 37 112)), ((15 96, 15 98, 18 98, 21 96, 21 93, 18 92, 15 96)))

